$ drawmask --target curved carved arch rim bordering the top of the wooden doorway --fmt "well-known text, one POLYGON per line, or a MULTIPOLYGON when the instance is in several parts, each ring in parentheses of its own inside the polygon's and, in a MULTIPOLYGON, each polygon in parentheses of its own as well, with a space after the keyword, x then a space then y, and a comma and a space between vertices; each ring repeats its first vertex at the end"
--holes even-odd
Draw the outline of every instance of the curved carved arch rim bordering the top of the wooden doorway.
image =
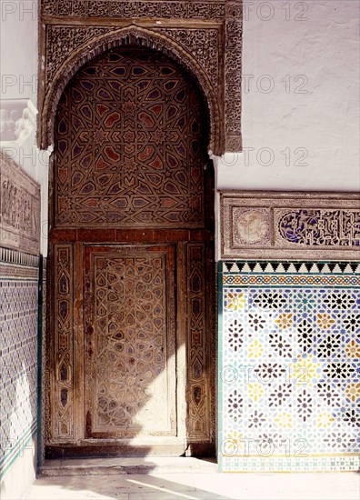
POLYGON ((75 73, 88 61, 101 55, 107 50, 122 46, 136 44, 153 48, 173 58, 177 63, 195 77, 197 84, 205 95, 210 120, 210 137, 208 149, 213 155, 221 155, 224 149, 224 132, 221 108, 217 103, 214 87, 211 85, 204 69, 195 61, 195 58, 185 51, 183 47, 166 35, 161 35, 153 30, 130 25, 112 32, 111 34, 95 36, 90 42, 78 47, 55 73, 54 83, 45 95, 41 113, 40 146, 46 149, 54 145, 54 127, 57 105, 60 97, 75 73))

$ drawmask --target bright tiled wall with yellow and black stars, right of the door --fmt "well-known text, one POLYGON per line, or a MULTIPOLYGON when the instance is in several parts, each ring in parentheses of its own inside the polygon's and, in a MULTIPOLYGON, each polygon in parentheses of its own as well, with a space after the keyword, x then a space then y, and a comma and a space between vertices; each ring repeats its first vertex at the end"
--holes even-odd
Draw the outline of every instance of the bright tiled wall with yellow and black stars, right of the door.
POLYGON ((219 466, 359 466, 360 265, 219 264, 219 466))

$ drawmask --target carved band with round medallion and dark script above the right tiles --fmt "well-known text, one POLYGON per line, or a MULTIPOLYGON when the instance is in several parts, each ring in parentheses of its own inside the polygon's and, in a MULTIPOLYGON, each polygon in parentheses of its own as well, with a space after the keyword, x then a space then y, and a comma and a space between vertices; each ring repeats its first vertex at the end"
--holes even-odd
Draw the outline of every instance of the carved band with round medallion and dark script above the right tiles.
POLYGON ((360 195, 221 193, 222 258, 358 259, 360 195))

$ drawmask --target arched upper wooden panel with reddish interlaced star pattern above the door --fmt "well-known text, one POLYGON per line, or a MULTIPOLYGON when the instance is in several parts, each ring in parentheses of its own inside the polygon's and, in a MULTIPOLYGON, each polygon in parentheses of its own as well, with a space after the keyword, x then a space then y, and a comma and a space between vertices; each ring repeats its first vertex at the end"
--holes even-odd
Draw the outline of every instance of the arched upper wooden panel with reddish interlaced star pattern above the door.
POLYGON ((117 48, 58 108, 55 226, 204 225, 202 103, 165 55, 117 48))

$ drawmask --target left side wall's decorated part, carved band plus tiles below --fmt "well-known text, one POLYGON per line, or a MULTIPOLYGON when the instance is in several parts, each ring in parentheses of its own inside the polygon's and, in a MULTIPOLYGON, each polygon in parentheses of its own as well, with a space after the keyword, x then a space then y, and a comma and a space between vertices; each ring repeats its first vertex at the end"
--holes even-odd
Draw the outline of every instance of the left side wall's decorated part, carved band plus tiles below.
POLYGON ((0 148, 0 496, 22 498, 37 452, 40 185, 0 148))

